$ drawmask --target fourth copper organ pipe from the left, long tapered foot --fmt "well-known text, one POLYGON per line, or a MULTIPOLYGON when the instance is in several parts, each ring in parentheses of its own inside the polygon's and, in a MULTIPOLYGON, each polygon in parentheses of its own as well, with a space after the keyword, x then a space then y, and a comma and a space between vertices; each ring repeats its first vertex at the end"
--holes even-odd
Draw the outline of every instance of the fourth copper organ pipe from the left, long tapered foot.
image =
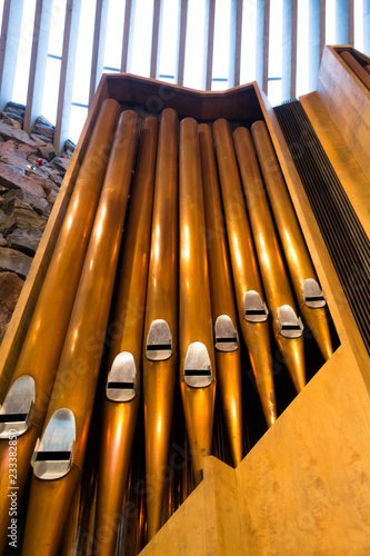
POLYGON ((163 110, 158 137, 143 340, 148 540, 161 527, 177 370, 178 129, 177 112, 171 108, 163 110), (166 340, 170 347, 161 350, 158 345, 158 351, 149 351, 151 327, 163 322, 171 335, 171 341, 169 338, 166 340))

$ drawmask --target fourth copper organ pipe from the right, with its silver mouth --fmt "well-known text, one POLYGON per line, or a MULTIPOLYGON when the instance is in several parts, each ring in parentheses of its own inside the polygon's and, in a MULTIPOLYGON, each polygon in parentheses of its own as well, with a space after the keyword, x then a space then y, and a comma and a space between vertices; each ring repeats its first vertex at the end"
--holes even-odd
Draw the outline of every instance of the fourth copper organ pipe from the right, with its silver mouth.
POLYGON ((241 357, 222 205, 208 125, 199 126, 216 368, 233 465, 242 459, 241 357))

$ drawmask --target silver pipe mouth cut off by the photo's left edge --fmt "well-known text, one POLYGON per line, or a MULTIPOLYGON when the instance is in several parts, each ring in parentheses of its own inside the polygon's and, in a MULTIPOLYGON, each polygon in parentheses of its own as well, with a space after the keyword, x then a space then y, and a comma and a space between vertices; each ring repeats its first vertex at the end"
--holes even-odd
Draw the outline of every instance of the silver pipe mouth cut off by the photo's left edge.
POLYGON ((32 419, 36 397, 36 384, 32 377, 24 375, 10 387, 0 406, 0 438, 9 435, 23 435, 32 419))

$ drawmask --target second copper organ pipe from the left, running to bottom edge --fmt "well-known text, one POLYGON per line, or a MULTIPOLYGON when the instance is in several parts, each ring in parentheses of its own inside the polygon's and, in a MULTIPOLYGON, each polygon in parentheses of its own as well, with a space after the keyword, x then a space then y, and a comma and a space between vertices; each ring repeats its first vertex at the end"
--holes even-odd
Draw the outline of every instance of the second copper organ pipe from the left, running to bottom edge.
MULTIPOLYGON (((79 288, 60 358, 41 443, 56 411, 74 419, 76 441, 64 476, 44 480, 36 476, 36 466, 44 465, 36 450, 28 507, 24 556, 53 555, 58 552, 69 507, 81 477, 96 385, 103 349, 110 299, 131 180, 138 116, 128 110, 120 117, 109 159, 107 176, 89 241, 79 288)), ((66 421, 63 421, 66 425, 66 421)), ((61 439, 66 435, 62 430, 61 439)), ((40 446, 39 446, 40 447, 40 446)), ((56 449, 56 448, 54 448, 56 449)), ((47 453, 48 457, 50 453, 47 453)), ((46 454, 46 455, 47 455, 46 454)), ((58 455, 58 451, 57 451, 58 455)), ((47 457, 47 460, 48 460, 47 457)), ((48 460, 49 461, 49 460, 48 460)), ((50 461, 47 470, 52 469, 50 461)), ((66 468, 64 468, 66 469, 66 468)))

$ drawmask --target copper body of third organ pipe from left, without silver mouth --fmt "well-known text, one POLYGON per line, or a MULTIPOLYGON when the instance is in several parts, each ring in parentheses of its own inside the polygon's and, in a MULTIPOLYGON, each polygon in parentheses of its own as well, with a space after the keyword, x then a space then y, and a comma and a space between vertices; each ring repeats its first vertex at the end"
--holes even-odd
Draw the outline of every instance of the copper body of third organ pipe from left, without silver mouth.
POLYGON ((133 356, 136 395, 127 401, 103 399, 100 465, 98 475, 96 554, 113 555, 120 526, 120 510, 131 457, 140 401, 142 332, 147 294, 158 121, 143 121, 131 207, 124 242, 121 277, 114 310, 114 334, 108 369, 116 357, 133 356))

